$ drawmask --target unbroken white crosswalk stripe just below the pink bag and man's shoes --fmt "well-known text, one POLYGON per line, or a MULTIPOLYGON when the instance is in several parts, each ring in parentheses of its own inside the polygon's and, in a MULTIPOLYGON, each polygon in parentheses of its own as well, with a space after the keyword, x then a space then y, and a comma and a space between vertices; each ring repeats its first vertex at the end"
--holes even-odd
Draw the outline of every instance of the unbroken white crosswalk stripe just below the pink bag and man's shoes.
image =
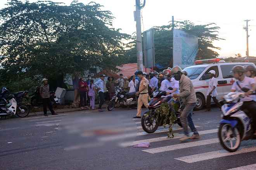
POLYGON ((218 142, 220 142, 219 138, 214 138, 214 139, 207 139, 207 140, 196 141, 196 142, 181 143, 177 145, 163 146, 163 147, 152 148, 152 149, 147 149, 142 151, 145 151, 148 153, 160 153, 160 152, 166 152, 166 151, 179 150, 183 148, 190 148, 194 146, 209 145, 209 144, 218 143, 218 142))

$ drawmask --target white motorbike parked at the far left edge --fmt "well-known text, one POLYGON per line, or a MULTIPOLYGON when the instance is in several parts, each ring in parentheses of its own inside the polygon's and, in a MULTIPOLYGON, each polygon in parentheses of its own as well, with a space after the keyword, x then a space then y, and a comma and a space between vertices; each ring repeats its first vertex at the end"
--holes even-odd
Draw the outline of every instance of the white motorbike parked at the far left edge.
POLYGON ((7 95, 8 90, 4 87, 1 93, 0 102, 0 119, 3 116, 13 116, 17 114, 19 117, 26 117, 29 114, 29 107, 20 102, 17 104, 14 95, 7 95), (9 100, 9 101, 8 101, 9 100))

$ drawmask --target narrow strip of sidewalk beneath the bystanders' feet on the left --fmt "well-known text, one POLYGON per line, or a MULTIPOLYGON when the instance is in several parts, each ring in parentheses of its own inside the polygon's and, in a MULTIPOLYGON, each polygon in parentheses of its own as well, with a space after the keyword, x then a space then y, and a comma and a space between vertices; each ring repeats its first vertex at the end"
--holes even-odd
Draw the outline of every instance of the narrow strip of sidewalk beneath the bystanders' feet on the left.
MULTIPOLYGON (((69 105, 66 105, 66 106, 69 106, 69 105)), ((102 109, 105 109, 107 106, 108 106, 108 104, 107 104, 107 103, 104 103, 104 104, 102 105, 102 109)), ((32 106, 32 107, 33 107, 33 106, 32 106)), ((95 107, 96 110, 92 110, 92 111, 97 111, 97 112, 98 112, 98 109, 97 109, 97 108, 99 107, 99 104, 95 105, 94 107, 95 107)), ((80 107, 78 107, 78 108, 71 108, 71 109, 69 109, 69 108, 63 108, 63 109, 57 109, 57 110, 54 109, 54 112, 57 113, 57 114, 59 114, 59 113, 75 112, 75 111, 81 111, 81 110, 86 110, 86 111, 87 111, 87 110, 89 110, 89 109, 87 109, 87 108, 81 109, 80 107)), ((107 109, 106 109, 106 110, 107 110, 107 109)), ((51 115, 51 112, 50 112, 50 110, 48 109, 48 107, 47 107, 47 114, 51 115)), ((40 115, 43 115, 43 111, 42 111, 42 112, 29 112, 29 114, 28 114, 28 116, 40 116, 40 115)))

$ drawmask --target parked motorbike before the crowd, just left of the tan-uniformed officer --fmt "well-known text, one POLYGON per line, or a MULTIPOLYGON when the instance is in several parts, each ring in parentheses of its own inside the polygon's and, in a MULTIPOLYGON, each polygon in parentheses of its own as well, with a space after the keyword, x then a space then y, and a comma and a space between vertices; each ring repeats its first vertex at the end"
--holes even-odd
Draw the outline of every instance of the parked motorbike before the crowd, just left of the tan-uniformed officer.
POLYGON ((112 97, 110 104, 107 107, 107 110, 111 111, 114 107, 129 107, 131 106, 134 109, 138 107, 138 97, 135 96, 137 92, 125 92, 121 87, 118 87, 114 97, 112 97))

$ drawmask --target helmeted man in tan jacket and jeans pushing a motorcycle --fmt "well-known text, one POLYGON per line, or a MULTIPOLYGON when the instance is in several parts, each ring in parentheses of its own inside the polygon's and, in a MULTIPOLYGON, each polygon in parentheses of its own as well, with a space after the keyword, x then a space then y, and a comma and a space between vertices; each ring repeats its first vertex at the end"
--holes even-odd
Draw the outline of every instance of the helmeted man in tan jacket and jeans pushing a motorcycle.
POLYGON ((173 98, 181 97, 185 108, 182 110, 180 115, 180 122, 182 123, 184 136, 180 138, 180 141, 185 141, 187 139, 200 138, 197 129, 195 128, 194 122, 192 120, 192 111, 195 107, 196 95, 193 83, 190 78, 182 74, 182 69, 179 66, 175 66, 171 69, 171 77, 179 81, 180 93, 173 94, 173 98), (189 136, 188 125, 191 131, 194 133, 189 136))

